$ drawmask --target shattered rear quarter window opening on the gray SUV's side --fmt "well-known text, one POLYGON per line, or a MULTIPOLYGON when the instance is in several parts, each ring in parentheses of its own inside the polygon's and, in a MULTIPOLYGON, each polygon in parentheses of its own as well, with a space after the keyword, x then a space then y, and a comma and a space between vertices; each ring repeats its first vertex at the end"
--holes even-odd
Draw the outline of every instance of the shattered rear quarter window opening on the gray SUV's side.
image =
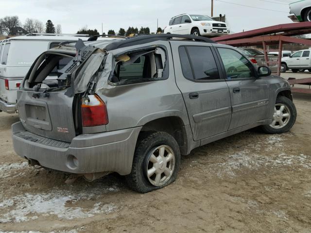
POLYGON ((167 78, 167 53, 163 48, 157 47, 119 55, 115 60, 110 82, 114 85, 126 85, 167 78))

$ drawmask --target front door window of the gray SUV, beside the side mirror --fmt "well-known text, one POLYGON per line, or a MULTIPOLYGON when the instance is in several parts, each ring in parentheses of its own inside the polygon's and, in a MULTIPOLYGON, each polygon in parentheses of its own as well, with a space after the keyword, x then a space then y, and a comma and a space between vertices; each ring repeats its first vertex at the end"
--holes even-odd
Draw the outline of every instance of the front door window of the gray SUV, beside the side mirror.
POLYGON ((225 48, 218 48, 223 61, 227 79, 254 77, 253 65, 241 53, 225 48))

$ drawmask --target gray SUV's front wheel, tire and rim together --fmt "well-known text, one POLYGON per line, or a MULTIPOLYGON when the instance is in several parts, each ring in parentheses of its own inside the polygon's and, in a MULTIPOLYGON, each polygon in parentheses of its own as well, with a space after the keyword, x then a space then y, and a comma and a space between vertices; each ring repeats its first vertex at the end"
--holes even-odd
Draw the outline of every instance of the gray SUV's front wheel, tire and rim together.
POLYGON ((296 121, 296 107, 292 100, 284 96, 276 99, 273 114, 273 122, 270 125, 263 125, 265 133, 285 133, 289 131, 296 121))

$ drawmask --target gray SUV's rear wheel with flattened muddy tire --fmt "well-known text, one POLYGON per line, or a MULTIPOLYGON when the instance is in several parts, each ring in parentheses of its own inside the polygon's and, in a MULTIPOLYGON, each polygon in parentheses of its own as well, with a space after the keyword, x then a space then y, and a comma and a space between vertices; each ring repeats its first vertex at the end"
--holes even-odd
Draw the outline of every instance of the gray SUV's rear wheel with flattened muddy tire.
POLYGON ((175 181, 179 165, 179 146, 171 134, 141 133, 136 145, 132 171, 126 176, 126 180, 134 191, 147 193, 175 181))

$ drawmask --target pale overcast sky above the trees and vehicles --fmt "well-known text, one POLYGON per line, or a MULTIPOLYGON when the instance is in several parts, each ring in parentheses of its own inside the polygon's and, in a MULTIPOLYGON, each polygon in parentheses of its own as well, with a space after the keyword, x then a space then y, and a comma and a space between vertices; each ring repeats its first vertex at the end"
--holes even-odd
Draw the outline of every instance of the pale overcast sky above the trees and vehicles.
MULTIPOLYGON (((231 31, 236 33, 290 23, 291 1, 214 0, 214 16, 226 15, 231 31)), ((129 26, 149 27, 155 32, 157 19, 163 29, 173 16, 211 13, 211 0, 0 0, 0 6, 0 18, 16 15, 22 23, 27 17, 44 23, 50 19, 54 25, 61 24, 62 33, 76 33, 84 26, 101 33, 102 23, 105 33, 109 29, 117 33, 129 26)))

